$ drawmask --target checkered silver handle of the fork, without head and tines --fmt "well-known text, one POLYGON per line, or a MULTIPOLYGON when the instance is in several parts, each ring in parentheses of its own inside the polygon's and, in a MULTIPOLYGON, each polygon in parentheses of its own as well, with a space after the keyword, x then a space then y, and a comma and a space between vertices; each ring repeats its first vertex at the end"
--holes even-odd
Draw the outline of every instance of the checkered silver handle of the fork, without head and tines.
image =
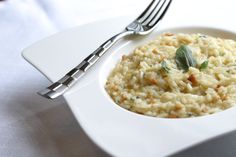
POLYGON ((58 96, 61 96, 71 86, 73 86, 112 45, 114 45, 122 37, 130 34, 133 34, 133 32, 125 30, 111 37, 109 40, 99 46, 93 53, 87 56, 78 66, 69 71, 64 77, 48 86, 46 89, 39 91, 38 94, 49 99, 54 99, 58 96))

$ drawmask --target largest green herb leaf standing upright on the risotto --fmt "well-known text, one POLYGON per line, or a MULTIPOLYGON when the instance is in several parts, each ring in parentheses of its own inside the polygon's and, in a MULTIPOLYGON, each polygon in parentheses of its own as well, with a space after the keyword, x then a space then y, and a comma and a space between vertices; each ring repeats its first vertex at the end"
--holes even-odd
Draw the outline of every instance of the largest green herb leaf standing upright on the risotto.
POLYGON ((191 49, 186 45, 181 45, 176 50, 175 62, 177 67, 184 70, 185 72, 188 71, 189 67, 196 67, 197 65, 197 62, 192 55, 191 49))

